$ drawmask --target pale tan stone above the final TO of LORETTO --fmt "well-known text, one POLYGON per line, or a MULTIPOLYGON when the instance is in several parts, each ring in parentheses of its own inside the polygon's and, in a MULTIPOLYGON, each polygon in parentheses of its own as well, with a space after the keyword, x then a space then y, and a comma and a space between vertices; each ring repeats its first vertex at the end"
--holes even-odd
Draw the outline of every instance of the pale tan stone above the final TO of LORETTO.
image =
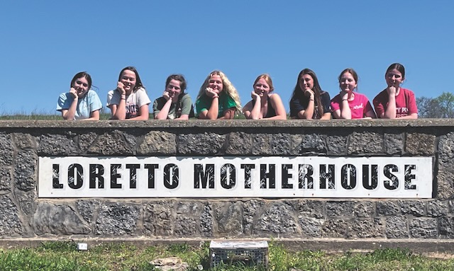
POLYGON ((152 131, 145 134, 143 142, 138 146, 138 154, 176 154, 177 144, 175 134, 162 131, 152 131))

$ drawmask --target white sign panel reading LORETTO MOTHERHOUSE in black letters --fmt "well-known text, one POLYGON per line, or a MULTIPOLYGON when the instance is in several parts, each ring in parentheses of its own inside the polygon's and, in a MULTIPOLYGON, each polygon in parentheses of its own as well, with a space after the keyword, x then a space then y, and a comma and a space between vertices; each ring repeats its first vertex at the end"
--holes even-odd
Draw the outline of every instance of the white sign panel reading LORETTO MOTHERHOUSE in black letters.
POLYGON ((40 157, 38 197, 432 197, 431 157, 40 157))

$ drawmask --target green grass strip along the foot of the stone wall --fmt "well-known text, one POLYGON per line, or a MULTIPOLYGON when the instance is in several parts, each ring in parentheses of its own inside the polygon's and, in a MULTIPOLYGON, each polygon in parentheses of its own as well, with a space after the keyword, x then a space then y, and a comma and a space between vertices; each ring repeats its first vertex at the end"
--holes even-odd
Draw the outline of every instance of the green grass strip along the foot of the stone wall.
MULTIPOLYGON (((209 270, 209 243, 192 247, 187 243, 138 248, 129 243, 106 243, 76 250, 72 242, 43 243, 36 248, 0 250, 0 270, 79 270, 79 271, 147 271, 157 270, 150 264, 156 258, 176 256, 189 264, 188 270, 209 270)), ((454 260, 441 260, 414 255, 405 249, 381 249, 371 253, 327 254, 323 251, 290 252, 270 242, 269 270, 291 268, 317 271, 438 271, 454 270, 454 260)), ((212 270, 264 270, 243 263, 220 265, 212 270)))

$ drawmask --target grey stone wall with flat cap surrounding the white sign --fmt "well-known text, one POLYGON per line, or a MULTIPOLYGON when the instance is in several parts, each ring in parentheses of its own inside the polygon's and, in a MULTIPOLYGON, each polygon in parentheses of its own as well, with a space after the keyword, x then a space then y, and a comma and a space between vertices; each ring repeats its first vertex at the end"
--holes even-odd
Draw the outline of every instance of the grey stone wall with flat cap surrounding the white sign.
POLYGON ((0 121, 0 243, 270 237, 327 246, 333 240, 450 242, 453 149, 453 120, 0 121), (36 193, 38 156, 309 155, 432 156, 434 196, 49 200, 36 193))

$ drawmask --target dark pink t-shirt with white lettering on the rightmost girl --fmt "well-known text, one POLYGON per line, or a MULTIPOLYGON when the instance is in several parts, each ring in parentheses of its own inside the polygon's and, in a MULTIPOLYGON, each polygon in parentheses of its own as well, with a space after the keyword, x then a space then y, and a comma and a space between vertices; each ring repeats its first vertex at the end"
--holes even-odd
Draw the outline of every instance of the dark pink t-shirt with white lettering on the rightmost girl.
MULTIPOLYGON (((382 117, 384 112, 386 112, 389 103, 389 96, 386 89, 375 96, 373 103, 375 111, 377 112, 377 117, 382 117)), ((396 96, 396 117, 405 117, 413 113, 418 114, 413 91, 406 88, 400 88, 399 95, 396 96)))

